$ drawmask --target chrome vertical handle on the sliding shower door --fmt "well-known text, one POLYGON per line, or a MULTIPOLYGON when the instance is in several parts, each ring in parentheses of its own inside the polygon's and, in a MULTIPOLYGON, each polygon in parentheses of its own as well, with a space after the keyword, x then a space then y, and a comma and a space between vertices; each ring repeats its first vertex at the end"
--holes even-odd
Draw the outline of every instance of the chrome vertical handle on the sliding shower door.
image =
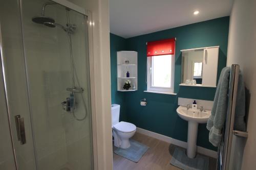
POLYGON ((17 137, 20 144, 26 143, 26 133, 25 133, 25 125, 24 125, 24 117, 20 117, 20 115, 15 116, 17 137))

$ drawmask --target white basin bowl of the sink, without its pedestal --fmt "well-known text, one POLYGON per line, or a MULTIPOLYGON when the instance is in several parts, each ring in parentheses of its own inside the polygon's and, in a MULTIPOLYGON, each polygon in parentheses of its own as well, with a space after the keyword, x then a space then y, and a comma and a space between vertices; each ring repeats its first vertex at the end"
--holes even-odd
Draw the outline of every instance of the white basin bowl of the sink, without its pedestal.
POLYGON ((187 121, 197 122, 199 124, 206 124, 208 118, 210 117, 210 110, 203 110, 201 112, 199 109, 193 110, 189 108, 187 110, 186 107, 179 106, 176 111, 180 118, 187 121))

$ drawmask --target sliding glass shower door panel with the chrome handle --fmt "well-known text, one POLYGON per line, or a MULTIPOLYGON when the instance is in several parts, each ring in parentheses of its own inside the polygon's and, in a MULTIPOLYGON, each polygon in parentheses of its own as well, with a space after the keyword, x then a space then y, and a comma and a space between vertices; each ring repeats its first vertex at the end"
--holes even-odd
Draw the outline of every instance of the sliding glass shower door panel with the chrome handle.
MULTIPOLYGON (((0 22, 1 22, 1 32, 2 32, 2 50, 3 50, 3 63, 5 65, 5 77, 7 85, 7 95, 8 95, 8 104, 9 104, 9 113, 10 113, 10 122, 12 129, 12 137, 14 143, 14 149, 16 152, 18 169, 34 170, 36 169, 35 165, 35 156, 34 156, 34 146, 32 138, 32 129, 30 124, 30 110, 28 102, 28 91, 27 91, 27 82, 26 82, 26 67, 24 61, 24 48, 23 48, 23 39, 22 39, 22 26, 20 22, 20 8, 19 1, 9 0, 1 1, 0 5, 0 22), (20 144, 20 141, 17 138, 17 131, 15 125, 15 116, 20 115, 24 118, 25 122, 25 131, 26 131, 26 144, 20 144)), ((4 90, 1 88, 1 94, 4 95, 4 90)), ((1 102, 1 104, 3 104, 1 102)), ((4 109, 5 106, 1 105, 1 109, 4 109)), ((5 111, 1 110, 1 126, 5 127, 8 125, 8 120, 6 119, 7 115, 5 111), (3 118, 3 119, 2 119, 3 118)), ((5 130, 6 128, 1 130, 5 130)), ((9 140, 10 134, 6 134, 1 137, 1 147, 4 147, 1 156, 4 159, 10 158, 10 155, 13 156, 12 152, 8 149, 11 141, 9 140), (8 139, 9 138, 9 139, 8 139), (4 153, 4 154, 3 154, 4 153)), ((10 160, 10 159, 9 159, 10 160)), ((2 161, 1 161, 2 162, 2 161)), ((11 163, 11 162, 9 162, 11 163)), ((14 163, 14 162, 13 162, 14 163)), ((2 169, 2 167, 0 167, 2 169)), ((3 168, 3 169, 11 169, 3 168)))

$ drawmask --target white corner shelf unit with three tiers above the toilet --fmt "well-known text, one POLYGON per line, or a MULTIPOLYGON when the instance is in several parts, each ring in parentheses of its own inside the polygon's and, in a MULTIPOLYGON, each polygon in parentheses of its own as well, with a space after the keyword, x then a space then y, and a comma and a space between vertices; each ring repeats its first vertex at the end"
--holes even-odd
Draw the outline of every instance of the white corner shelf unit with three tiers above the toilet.
POLYGON ((117 91, 136 91, 138 89, 138 53, 135 51, 119 51, 117 52, 117 91), (128 63, 129 62, 129 63, 128 63), (130 77, 126 77, 129 71, 130 77), (123 89, 124 82, 130 80, 131 88, 123 89), (133 89, 135 85, 135 89, 133 89))

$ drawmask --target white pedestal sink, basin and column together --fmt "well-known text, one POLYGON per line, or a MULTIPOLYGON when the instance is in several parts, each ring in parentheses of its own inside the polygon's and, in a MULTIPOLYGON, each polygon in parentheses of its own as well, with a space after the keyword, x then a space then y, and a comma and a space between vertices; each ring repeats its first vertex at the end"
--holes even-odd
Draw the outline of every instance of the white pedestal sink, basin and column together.
POLYGON ((186 107, 179 106, 177 108, 177 113, 180 118, 188 121, 187 130, 187 156, 189 158, 194 158, 197 151, 197 131, 198 124, 207 123, 210 117, 210 110, 200 111, 199 109, 187 109, 186 107))

